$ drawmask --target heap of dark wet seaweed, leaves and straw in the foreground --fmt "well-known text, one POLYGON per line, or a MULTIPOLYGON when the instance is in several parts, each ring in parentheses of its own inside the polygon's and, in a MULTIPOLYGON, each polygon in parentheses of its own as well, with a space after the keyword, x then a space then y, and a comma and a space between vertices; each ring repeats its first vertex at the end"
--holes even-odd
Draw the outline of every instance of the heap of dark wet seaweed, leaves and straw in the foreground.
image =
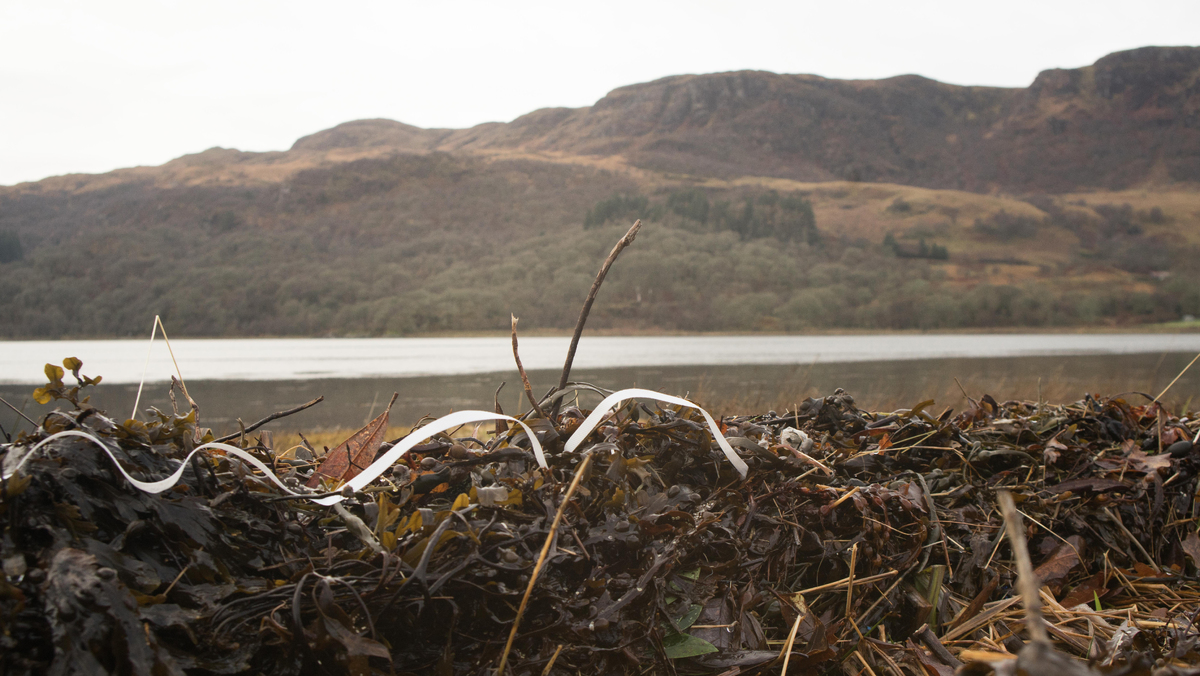
POLYGON ((5 475, 25 461, 0 484, 5 674, 1200 674, 1198 420, 1151 397, 931 414, 838 390, 720 419, 745 477, 662 402, 566 453, 584 384, 522 418, 546 468, 521 425, 434 435, 360 490, 322 485, 316 449, 230 439, 344 498, 320 505, 221 451, 158 495, 78 437, 25 459, 85 431, 152 480, 211 441, 194 407, 119 423, 58 375, 70 406, 2 447, 5 475))

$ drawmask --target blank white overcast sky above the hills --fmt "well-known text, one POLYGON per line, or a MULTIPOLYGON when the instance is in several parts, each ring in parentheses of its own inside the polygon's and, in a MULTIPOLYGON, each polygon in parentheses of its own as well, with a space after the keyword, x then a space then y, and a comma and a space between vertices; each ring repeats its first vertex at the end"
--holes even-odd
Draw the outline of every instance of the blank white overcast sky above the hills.
POLYGON ((678 73, 1026 86, 1147 44, 1200 44, 1200 1, 0 0, 0 185, 362 118, 504 121, 678 73))

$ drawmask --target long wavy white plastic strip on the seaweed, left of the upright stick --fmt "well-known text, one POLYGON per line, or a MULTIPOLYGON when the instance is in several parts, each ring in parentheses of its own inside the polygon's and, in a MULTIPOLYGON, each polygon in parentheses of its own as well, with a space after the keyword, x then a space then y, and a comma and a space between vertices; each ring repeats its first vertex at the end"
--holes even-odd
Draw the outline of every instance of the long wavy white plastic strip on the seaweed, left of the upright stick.
MULTIPOLYGON (((457 427, 460 425, 466 425, 468 423, 481 423, 481 421, 485 421, 485 420, 511 420, 514 423, 517 423, 522 427, 524 427, 526 433, 529 436, 529 444, 533 447, 534 456, 536 456, 536 459, 538 459, 538 463, 541 465, 542 467, 547 467, 547 465, 546 465, 546 456, 541 451, 541 444, 538 442, 538 437, 533 433, 533 430, 530 430, 529 426, 526 425, 524 423, 522 423, 521 420, 517 420, 516 418, 512 418, 512 417, 509 417, 509 415, 504 415, 504 414, 500 414, 500 413, 491 413, 491 412, 487 412, 487 411, 458 411, 458 412, 451 413, 449 415, 443 415, 442 418, 438 418, 437 420, 433 420, 432 423, 430 423, 430 424, 427 424, 427 425, 425 425, 425 426, 422 426, 422 427, 420 427, 418 430, 414 430, 413 433, 410 433, 407 437, 404 437, 403 441, 401 441, 396 445, 391 447, 388 450, 388 453, 385 453, 382 457, 379 457, 378 460, 376 460, 374 462, 372 462, 370 466, 367 466, 367 468, 364 469, 359 475, 356 475, 353 479, 350 479, 349 481, 347 481, 346 486, 349 486, 354 491, 361 490, 364 486, 366 486, 367 484, 370 484, 371 481, 373 481, 376 478, 378 478, 379 474, 383 474, 384 471, 388 469, 388 467, 390 467, 397 460, 400 460, 400 457, 402 455, 404 455, 406 453, 408 453, 414 445, 416 445, 416 444, 419 444, 419 443, 428 439, 430 437, 432 437, 433 435, 437 435, 439 432, 444 432, 446 430, 452 430, 454 427, 457 427)), ((10 477, 12 477, 18 471, 20 471, 22 466, 24 466, 25 462, 28 462, 29 459, 32 457, 34 454, 36 454, 38 449, 41 449, 43 445, 50 443, 52 441, 60 439, 60 438, 64 438, 64 437, 79 437, 79 438, 84 438, 84 439, 91 441, 92 443, 95 443, 96 445, 98 445, 104 453, 108 454, 108 457, 110 457, 113 460, 113 465, 116 466, 116 469, 121 473, 121 475, 125 477, 125 479, 130 484, 132 484, 138 490, 145 491, 148 493, 161 493, 162 491, 166 491, 166 490, 170 489, 172 486, 174 486, 175 484, 179 483, 179 479, 184 475, 184 469, 187 467, 187 462, 192 459, 193 455, 196 455, 197 453, 199 453, 202 450, 217 449, 217 450, 223 450, 224 453, 227 453, 229 455, 233 455, 233 456, 235 456, 235 457, 238 457, 240 460, 244 460, 244 461, 248 462, 256 469, 258 469, 259 472, 262 472, 264 477, 266 477, 268 479, 270 479, 271 481, 274 481, 275 485, 277 485, 281 490, 283 490, 283 492, 286 492, 288 495, 293 495, 293 496, 301 497, 301 498, 305 498, 305 499, 311 499, 311 501, 316 502, 317 504, 324 504, 324 505, 336 504, 336 503, 342 502, 343 499, 346 499, 344 497, 342 497, 340 495, 337 495, 337 496, 325 496, 325 497, 319 497, 318 498, 318 497, 313 497, 312 495, 308 495, 308 493, 301 493, 301 492, 293 491, 283 481, 281 481, 278 477, 275 475, 275 472, 271 472, 270 467, 268 467, 266 465, 264 465, 260 460, 258 460, 253 455, 246 453, 245 450, 242 450, 240 448, 236 448, 236 447, 233 447, 233 445, 229 445, 229 444, 226 444, 226 443, 217 443, 217 442, 206 443, 206 444, 198 445, 194 449, 192 449, 192 453, 187 454, 187 457, 184 459, 184 461, 179 465, 179 468, 175 469, 175 472, 172 475, 169 475, 169 477, 167 477, 164 479, 160 479, 157 481, 139 481, 138 479, 134 479, 133 477, 130 475, 128 472, 125 471, 125 467, 121 466, 121 462, 116 459, 115 455, 113 455, 113 451, 109 450, 108 445, 106 445, 104 442, 100 441, 98 438, 96 438, 92 435, 89 435, 88 432, 80 432, 80 431, 77 431, 77 430, 67 430, 67 431, 58 432, 58 433, 54 433, 54 435, 50 435, 50 436, 46 437, 44 439, 42 439, 41 442, 38 442, 34 448, 29 449, 29 453, 26 453, 25 456, 22 457, 20 462, 18 462, 16 467, 13 467, 12 472, 8 472, 7 474, 4 474, 4 477, 0 477, 0 478, 2 478, 4 480, 7 480, 10 477)))

